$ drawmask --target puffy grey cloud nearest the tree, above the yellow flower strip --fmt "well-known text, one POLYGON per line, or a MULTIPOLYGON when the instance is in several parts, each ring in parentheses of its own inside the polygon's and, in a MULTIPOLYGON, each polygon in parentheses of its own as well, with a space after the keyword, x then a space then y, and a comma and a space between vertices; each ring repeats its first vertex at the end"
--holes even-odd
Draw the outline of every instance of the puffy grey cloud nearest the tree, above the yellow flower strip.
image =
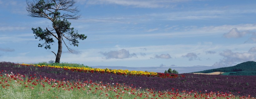
POLYGON ((126 49, 121 49, 118 51, 110 51, 110 52, 99 52, 99 53, 106 56, 106 59, 111 59, 111 58, 124 59, 124 58, 137 57, 135 53, 130 54, 129 51, 126 49))

